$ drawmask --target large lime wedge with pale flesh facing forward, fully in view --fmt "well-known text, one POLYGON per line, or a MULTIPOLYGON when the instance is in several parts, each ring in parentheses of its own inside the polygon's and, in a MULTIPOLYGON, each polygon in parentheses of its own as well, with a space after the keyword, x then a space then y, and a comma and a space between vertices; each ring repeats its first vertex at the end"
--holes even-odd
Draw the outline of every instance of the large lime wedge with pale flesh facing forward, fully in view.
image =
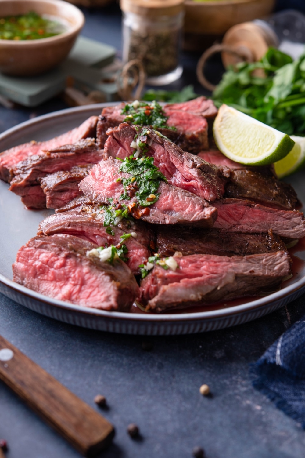
POLYGON ((294 146, 289 135, 225 104, 218 110, 213 133, 219 150, 241 164, 272 164, 294 146))

